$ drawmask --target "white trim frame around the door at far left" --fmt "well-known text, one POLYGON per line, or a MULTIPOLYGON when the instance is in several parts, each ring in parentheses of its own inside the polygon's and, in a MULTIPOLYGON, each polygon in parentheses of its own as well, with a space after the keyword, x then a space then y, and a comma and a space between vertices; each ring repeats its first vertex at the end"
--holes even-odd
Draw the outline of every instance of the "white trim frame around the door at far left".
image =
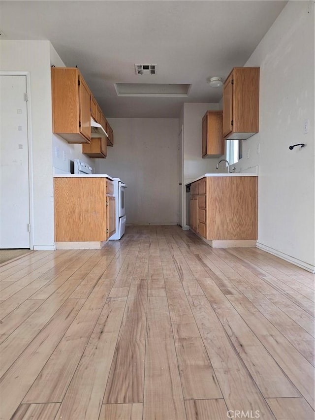
POLYGON ((30 249, 34 249, 34 201, 33 201, 33 161, 32 161, 32 118, 31 118, 31 73, 30 71, 3 71, 0 76, 26 76, 28 157, 29 157, 29 211, 30 211, 30 249))

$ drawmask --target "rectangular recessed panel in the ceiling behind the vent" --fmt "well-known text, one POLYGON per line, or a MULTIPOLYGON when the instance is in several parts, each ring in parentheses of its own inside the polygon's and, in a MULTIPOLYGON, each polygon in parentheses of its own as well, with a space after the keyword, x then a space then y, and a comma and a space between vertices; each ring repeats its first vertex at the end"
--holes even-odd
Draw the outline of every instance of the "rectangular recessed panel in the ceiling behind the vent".
POLYGON ((183 83, 115 83, 118 96, 188 97, 190 84, 183 83))

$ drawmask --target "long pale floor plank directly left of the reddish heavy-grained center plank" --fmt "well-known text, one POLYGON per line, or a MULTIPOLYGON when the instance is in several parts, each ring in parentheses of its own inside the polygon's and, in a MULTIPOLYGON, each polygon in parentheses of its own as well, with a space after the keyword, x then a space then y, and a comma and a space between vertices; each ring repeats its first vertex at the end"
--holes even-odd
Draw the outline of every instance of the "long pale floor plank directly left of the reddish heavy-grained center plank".
POLYGON ((58 419, 98 419, 125 305, 126 297, 106 300, 65 393, 58 419))

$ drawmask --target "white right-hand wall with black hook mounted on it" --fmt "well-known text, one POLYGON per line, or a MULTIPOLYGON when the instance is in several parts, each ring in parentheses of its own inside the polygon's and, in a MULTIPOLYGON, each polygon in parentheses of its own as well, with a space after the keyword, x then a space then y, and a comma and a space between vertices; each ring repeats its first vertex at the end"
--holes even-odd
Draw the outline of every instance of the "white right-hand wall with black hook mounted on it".
POLYGON ((289 1, 246 66, 260 66, 260 127, 243 142, 243 159, 235 166, 237 171, 259 166, 258 246, 312 270, 314 2, 289 1), (303 134, 305 119, 308 134, 303 134), (296 143, 307 146, 290 151, 296 143))

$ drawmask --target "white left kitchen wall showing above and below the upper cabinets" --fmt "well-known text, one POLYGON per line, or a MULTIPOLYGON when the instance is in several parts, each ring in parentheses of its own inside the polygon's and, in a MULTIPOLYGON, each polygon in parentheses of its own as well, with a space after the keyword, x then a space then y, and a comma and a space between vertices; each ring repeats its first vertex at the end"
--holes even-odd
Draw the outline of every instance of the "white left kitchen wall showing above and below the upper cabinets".
MULTIPOLYGON (((52 44, 50 44, 50 65, 65 67, 62 59, 59 57, 52 44)), ((81 153, 81 144, 70 144, 57 134, 53 134, 52 139, 54 173, 70 173, 70 161, 74 161, 74 159, 80 159, 80 161, 89 163, 89 165, 93 168, 93 172, 95 172, 95 162, 93 159, 90 159, 88 156, 81 153), (59 157, 57 156, 58 151, 59 157)))

